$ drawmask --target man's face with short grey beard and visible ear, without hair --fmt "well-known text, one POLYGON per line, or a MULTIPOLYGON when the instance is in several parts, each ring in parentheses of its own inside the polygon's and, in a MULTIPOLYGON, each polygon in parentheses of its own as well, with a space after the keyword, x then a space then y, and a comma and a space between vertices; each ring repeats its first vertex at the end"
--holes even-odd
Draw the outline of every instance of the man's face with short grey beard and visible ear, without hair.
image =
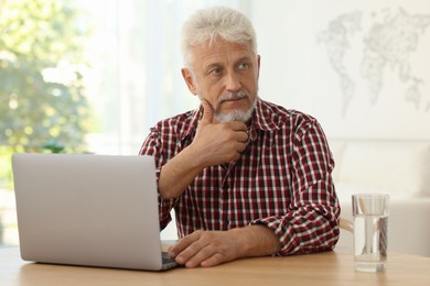
POLYGON ((218 122, 247 121, 257 100, 259 57, 250 44, 221 38, 193 47, 191 70, 182 75, 189 89, 212 106, 218 122))

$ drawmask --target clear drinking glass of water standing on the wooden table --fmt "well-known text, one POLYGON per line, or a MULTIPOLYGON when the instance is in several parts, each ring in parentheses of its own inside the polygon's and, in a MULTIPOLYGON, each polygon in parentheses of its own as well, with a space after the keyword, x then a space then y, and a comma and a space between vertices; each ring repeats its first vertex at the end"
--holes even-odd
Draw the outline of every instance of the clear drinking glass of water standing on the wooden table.
POLYGON ((354 265, 383 272, 387 266, 388 195, 353 195, 354 265))

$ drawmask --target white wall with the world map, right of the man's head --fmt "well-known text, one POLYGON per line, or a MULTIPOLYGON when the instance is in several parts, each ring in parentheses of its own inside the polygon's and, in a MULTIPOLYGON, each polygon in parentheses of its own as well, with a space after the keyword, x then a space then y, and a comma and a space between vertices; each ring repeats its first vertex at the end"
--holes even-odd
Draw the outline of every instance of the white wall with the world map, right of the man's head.
POLYGON ((250 16, 261 98, 316 117, 329 138, 430 140, 429 1, 254 1, 250 16))

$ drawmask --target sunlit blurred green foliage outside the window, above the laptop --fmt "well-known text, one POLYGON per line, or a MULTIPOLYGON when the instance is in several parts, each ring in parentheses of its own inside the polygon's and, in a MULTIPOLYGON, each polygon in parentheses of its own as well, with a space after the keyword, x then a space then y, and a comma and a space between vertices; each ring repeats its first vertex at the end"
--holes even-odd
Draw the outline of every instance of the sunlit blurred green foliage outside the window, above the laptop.
POLYGON ((78 70, 88 29, 73 3, 0 0, 0 178, 8 184, 12 153, 86 150, 92 117, 78 70))

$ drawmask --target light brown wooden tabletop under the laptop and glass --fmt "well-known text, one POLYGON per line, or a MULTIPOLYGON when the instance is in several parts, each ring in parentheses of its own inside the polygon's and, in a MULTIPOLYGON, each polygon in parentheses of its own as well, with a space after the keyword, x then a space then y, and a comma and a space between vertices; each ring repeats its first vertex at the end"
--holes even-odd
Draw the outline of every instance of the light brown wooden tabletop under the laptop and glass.
POLYGON ((352 250, 240 260, 211 268, 143 272, 29 263, 0 249, 0 285, 430 285, 430 258, 389 253, 384 273, 355 272, 352 250))

